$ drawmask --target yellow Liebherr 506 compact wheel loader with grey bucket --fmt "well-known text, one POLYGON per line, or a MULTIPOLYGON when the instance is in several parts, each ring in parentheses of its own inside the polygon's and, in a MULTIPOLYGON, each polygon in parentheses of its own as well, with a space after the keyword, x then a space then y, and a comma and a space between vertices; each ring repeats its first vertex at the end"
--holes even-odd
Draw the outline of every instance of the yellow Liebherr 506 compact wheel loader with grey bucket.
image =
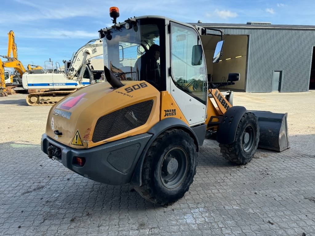
MULTIPOLYGON (((117 14, 112 8, 111 16, 117 14)), ((113 23, 99 31, 107 82, 54 104, 41 142, 49 158, 98 182, 130 183, 145 199, 165 205, 188 191, 206 135, 237 164, 248 163, 260 142, 288 148, 286 114, 232 106, 232 93, 217 89, 239 74, 208 84, 200 39, 205 30, 162 16, 113 23), (123 73, 114 74, 111 65, 123 73)), ((217 43, 213 62, 222 45, 217 43)))

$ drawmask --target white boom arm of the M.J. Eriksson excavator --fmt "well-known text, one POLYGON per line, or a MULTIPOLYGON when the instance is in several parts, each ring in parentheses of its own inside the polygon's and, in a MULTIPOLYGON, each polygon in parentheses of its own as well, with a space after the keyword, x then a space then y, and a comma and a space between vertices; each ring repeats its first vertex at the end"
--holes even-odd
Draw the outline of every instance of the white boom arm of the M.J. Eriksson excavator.
POLYGON ((93 39, 79 48, 72 56, 68 78, 73 79, 82 66, 86 66, 89 59, 103 54, 103 43, 100 39, 93 39))

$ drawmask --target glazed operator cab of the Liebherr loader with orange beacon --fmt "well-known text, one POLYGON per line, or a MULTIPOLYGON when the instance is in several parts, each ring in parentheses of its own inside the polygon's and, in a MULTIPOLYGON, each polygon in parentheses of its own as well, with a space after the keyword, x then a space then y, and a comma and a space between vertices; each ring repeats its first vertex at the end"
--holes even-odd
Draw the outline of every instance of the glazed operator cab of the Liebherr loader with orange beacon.
MULTIPOLYGON (((165 91, 172 96, 189 125, 203 123, 208 82, 200 32, 162 16, 117 23, 118 8, 113 8, 110 15, 114 25, 99 31, 107 81, 113 88, 124 86, 126 80, 146 81, 161 94, 165 91)), ((221 48, 214 63, 220 59, 221 48)))

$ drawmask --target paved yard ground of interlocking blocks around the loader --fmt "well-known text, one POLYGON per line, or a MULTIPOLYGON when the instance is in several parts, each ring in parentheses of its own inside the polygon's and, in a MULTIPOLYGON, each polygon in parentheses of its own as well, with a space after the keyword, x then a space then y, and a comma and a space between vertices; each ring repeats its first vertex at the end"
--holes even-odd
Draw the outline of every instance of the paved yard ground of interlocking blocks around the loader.
POLYGON ((314 92, 235 93, 234 105, 288 112, 291 149, 237 166, 206 140, 191 188, 168 207, 49 160, 50 107, 0 98, 0 235, 315 235, 314 92))

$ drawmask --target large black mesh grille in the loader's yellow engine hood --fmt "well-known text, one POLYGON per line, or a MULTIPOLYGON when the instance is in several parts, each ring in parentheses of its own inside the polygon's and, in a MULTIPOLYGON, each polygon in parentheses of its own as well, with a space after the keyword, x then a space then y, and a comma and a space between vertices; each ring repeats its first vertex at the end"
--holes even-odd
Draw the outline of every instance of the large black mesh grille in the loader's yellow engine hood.
POLYGON ((152 106, 153 100, 148 100, 101 116, 96 122, 92 142, 100 142, 144 125, 152 106))

